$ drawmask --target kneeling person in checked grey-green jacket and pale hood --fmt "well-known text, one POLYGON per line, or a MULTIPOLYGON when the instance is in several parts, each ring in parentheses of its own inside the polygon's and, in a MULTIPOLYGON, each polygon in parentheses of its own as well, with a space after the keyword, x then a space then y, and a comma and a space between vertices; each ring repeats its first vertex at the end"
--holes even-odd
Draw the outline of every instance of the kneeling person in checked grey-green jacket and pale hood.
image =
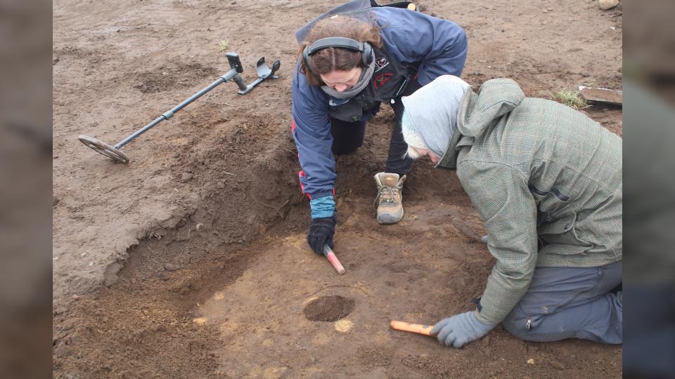
POLYGON ((474 93, 444 75, 402 101, 409 156, 456 170, 496 259, 477 309, 432 335, 461 347, 502 323, 523 340, 622 343, 621 138, 511 79, 474 93))

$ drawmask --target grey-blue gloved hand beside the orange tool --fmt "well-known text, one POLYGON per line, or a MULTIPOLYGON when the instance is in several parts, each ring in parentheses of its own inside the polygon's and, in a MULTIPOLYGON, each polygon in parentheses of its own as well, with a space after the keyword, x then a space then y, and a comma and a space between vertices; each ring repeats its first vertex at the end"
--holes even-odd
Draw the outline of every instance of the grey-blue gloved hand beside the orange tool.
POLYGON ((438 324, 434 325, 431 330, 431 335, 437 335, 438 342, 446 346, 462 347, 486 335, 492 328, 494 325, 486 325, 478 321, 472 311, 438 321, 438 324))

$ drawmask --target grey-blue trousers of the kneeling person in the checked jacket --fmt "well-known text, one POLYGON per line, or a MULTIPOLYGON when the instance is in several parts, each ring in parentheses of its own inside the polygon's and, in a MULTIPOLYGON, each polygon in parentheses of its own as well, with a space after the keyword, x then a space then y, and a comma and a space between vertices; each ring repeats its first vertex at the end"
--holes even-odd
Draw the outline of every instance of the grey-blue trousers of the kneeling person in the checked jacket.
POLYGON ((503 321, 516 337, 536 342, 581 338, 622 343, 622 262, 590 268, 537 267, 527 293, 503 321))

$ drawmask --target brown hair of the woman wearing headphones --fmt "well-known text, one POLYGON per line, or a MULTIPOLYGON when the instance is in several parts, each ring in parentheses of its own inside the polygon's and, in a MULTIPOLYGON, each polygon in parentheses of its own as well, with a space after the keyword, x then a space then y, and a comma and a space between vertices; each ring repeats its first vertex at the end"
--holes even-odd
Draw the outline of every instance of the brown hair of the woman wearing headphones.
POLYGON ((321 74, 336 69, 347 71, 361 66, 361 53, 347 48, 323 48, 311 55, 309 67, 302 59, 304 48, 322 38, 342 36, 359 42, 368 42, 373 47, 382 46, 380 29, 361 20, 356 20, 345 15, 335 15, 316 22, 311 28, 307 39, 300 44, 296 57, 300 60, 300 72, 307 77, 310 86, 322 86, 321 74))

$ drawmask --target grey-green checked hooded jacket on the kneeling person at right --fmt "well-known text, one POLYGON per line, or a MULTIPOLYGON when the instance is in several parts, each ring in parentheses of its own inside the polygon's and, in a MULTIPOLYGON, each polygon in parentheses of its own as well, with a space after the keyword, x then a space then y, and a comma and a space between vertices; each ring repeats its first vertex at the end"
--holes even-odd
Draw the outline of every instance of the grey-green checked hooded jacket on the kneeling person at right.
POLYGON ((456 168, 496 258, 480 321, 501 322, 537 266, 622 260, 622 140, 581 112, 486 81, 464 94, 437 166, 456 168))

